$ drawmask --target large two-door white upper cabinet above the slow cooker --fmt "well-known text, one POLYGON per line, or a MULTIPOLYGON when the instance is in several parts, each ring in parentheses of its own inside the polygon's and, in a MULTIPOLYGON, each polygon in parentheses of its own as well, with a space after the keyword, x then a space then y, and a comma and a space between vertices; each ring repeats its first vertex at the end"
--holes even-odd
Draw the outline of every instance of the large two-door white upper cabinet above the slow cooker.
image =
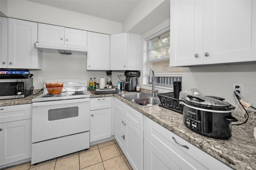
POLYGON ((170 66, 256 60, 256 2, 170 2, 170 66))

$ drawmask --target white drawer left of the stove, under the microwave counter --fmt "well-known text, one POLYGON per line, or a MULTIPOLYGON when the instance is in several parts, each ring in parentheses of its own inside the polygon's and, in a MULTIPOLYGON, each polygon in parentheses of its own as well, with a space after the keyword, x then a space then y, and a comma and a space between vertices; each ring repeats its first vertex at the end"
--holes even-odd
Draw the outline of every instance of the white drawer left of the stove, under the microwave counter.
POLYGON ((0 123, 20 121, 31 118, 31 104, 0 107, 0 123))

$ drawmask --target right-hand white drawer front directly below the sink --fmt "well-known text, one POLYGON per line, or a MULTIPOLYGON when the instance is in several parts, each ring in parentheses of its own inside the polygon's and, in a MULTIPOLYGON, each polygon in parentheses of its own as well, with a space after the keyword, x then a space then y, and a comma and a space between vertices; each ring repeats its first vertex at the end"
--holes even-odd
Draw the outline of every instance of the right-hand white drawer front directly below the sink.
POLYGON ((125 117, 134 127, 143 133, 143 115, 140 112, 126 105, 125 117))

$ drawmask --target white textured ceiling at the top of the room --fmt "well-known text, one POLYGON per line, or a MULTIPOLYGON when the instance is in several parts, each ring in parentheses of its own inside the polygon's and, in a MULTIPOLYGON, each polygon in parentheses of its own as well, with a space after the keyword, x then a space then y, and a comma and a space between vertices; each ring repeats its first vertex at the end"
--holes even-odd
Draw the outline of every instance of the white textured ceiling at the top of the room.
POLYGON ((124 21, 142 0, 28 0, 116 22, 124 21))

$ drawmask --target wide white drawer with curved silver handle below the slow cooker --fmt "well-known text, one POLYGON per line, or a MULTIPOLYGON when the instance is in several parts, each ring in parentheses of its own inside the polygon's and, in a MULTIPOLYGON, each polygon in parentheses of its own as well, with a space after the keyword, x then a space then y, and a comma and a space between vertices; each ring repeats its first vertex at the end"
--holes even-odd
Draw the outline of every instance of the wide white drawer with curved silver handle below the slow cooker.
POLYGON ((211 169, 212 167, 222 170, 231 169, 216 158, 148 118, 146 120, 146 129, 146 138, 181 169, 211 169))

